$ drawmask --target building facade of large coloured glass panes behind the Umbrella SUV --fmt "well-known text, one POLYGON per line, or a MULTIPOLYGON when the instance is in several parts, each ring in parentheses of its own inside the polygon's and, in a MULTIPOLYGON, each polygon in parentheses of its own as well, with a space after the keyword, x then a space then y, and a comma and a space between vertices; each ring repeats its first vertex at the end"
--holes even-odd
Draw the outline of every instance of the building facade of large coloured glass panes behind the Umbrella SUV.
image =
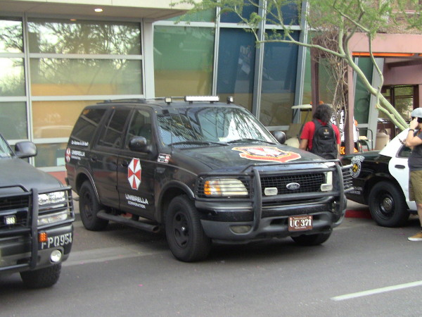
MULTIPOLYGON (((39 149, 31 163, 64 175, 75 120, 105 99, 217 94, 233 96, 269 130, 299 122, 291 107, 311 101, 306 49, 257 46, 230 13, 175 23, 188 6, 172 2, 0 0, 0 132, 11 144, 30 139, 39 149)), ((245 6, 243 14, 255 10, 245 6)), ((293 37, 306 41, 298 8, 283 15, 293 37)), ((263 24, 261 34, 273 29, 263 24)), ((320 96, 328 99, 325 88, 320 96)), ((374 116, 368 105, 358 114, 366 125, 374 116)))

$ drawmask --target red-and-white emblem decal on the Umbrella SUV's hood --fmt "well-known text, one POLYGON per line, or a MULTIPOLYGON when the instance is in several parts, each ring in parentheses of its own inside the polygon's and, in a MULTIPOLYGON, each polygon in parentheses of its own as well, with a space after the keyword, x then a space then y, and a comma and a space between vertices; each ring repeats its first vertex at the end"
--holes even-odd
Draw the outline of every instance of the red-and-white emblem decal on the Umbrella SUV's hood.
POLYGON ((254 161, 269 161, 269 162, 289 162, 300 159, 298 153, 283 151, 277 147, 234 147, 234 151, 241 151, 239 156, 243 159, 254 161))

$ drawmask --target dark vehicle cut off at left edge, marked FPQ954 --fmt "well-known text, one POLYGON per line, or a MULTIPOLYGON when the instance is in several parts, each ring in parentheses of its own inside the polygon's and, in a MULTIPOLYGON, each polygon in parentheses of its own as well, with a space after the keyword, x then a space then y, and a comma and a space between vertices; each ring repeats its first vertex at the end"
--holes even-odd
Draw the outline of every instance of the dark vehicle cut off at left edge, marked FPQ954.
POLYGON ((0 135, 0 276, 20 272, 28 287, 48 287, 60 276, 72 248, 72 191, 23 159, 37 155, 32 142, 15 152, 0 135))

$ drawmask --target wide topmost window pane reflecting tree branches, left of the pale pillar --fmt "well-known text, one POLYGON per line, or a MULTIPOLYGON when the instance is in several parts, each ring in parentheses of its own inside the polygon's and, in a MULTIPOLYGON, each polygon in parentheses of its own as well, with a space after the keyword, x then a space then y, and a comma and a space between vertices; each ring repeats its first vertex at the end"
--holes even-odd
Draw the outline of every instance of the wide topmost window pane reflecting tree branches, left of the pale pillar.
POLYGON ((31 19, 31 53, 141 54, 139 23, 31 19))

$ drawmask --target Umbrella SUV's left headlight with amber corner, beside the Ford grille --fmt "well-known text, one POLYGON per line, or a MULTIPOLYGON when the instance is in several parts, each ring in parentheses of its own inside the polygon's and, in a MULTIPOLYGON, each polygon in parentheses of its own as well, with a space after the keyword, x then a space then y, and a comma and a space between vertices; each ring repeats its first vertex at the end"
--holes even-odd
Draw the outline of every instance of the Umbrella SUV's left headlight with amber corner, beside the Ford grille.
POLYGON ((236 178, 216 178, 205 180, 204 194, 206 196, 248 196, 248 189, 241 180, 236 178))

